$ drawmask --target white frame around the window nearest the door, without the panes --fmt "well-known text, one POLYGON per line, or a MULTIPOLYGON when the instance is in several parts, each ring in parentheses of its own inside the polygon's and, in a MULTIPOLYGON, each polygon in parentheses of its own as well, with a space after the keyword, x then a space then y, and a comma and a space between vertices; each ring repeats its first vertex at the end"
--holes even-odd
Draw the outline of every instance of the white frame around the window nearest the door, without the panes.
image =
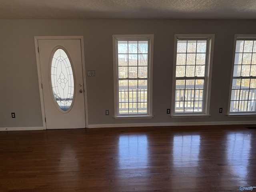
POLYGON ((114 118, 152 118, 152 97, 153 97, 153 34, 140 35, 113 35, 113 62, 114 62, 114 118), (148 81, 147 81, 147 113, 146 114, 119 114, 119 85, 118 85, 118 41, 140 41, 148 40, 148 81))

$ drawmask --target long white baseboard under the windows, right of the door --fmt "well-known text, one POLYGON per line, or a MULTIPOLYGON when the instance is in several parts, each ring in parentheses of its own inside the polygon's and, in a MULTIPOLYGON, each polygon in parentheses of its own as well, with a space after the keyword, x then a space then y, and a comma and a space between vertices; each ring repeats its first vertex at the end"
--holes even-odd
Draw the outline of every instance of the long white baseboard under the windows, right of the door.
POLYGON ((196 126, 196 125, 241 125, 241 124, 256 124, 256 121, 175 122, 175 123, 127 123, 127 124, 89 124, 87 128, 110 128, 110 127, 155 127, 155 126, 196 126))

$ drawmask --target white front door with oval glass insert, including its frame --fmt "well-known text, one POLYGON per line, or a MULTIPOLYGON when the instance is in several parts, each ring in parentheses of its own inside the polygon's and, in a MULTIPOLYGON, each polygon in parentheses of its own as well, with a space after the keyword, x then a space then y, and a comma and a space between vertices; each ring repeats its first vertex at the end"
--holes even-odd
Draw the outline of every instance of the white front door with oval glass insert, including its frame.
POLYGON ((46 129, 85 128, 82 39, 36 40, 46 129))

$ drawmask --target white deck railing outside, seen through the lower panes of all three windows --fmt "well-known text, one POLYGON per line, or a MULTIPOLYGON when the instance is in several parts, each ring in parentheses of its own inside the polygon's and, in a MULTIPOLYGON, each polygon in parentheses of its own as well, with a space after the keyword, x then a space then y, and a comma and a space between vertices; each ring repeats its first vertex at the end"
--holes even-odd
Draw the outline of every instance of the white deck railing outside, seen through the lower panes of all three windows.
MULTIPOLYGON (((203 90, 203 85, 186 85, 186 90, 184 95, 181 92, 175 92, 175 110, 202 110, 203 107, 203 94, 194 94, 192 90, 198 91, 203 90), (194 89, 195 88, 195 89, 194 89), (198 102, 198 105, 194 105, 194 102, 198 102)), ((185 85, 176 85, 176 90, 185 90, 185 85)), ((231 94, 231 104, 230 112, 247 112, 247 111, 256 111, 256 90, 249 89, 248 87, 241 87, 233 85, 231 94)), ((121 99, 120 103, 132 103, 137 102, 138 107, 130 107, 120 105, 119 110, 147 110, 147 86, 119 86, 119 95, 126 94, 121 99), (129 96, 127 95, 129 94, 129 96), (141 99, 145 98, 145 99, 141 99)))

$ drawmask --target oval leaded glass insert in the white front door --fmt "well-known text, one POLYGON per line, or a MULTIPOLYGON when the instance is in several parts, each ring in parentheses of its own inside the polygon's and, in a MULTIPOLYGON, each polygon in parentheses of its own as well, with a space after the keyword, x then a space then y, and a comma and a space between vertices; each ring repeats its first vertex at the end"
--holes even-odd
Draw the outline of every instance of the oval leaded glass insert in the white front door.
POLYGON ((51 82, 56 103, 61 110, 67 111, 73 102, 74 76, 68 55, 61 48, 52 57, 51 82))

